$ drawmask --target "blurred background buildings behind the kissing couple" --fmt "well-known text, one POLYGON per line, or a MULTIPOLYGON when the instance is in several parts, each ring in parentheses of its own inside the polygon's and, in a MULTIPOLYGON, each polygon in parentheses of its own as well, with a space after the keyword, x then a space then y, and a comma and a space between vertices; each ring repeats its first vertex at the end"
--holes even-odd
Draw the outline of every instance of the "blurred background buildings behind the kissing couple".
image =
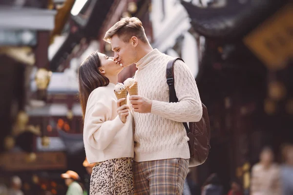
POLYGON ((96 50, 113 55, 102 38, 127 16, 197 81, 211 150, 191 169, 196 184, 217 173, 225 192, 234 178, 249 189, 265 145, 282 162, 293 142, 292 0, 0 0, 0 181, 63 195, 60 174, 73 170, 86 186, 77 68, 96 50))

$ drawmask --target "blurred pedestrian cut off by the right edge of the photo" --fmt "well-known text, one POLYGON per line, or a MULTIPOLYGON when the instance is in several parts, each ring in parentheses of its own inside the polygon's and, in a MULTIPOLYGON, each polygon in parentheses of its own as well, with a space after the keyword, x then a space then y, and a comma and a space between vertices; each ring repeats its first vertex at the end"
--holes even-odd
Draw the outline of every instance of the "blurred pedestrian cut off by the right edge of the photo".
POLYGON ((286 145, 282 154, 285 160, 281 167, 283 195, 293 195, 293 145, 286 145))

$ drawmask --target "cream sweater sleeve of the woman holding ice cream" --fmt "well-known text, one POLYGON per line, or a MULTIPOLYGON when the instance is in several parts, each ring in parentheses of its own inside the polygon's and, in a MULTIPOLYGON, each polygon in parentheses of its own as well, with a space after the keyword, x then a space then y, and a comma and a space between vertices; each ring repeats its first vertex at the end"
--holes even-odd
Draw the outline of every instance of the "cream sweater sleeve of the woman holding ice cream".
POLYGON ((84 120, 84 139, 97 150, 104 150, 125 125, 118 115, 110 120, 111 111, 112 103, 109 98, 100 98, 89 109, 84 120))

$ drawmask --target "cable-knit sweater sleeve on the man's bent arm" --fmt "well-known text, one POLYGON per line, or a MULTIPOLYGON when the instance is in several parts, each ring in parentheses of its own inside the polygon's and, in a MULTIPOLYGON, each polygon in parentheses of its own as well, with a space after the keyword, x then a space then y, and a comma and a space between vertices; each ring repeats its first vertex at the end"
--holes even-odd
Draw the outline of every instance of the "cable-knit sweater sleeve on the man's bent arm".
POLYGON ((151 113, 177 122, 197 122, 203 108, 195 79, 181 60, 174 64, 174 86, 178 102, 152 101, 151 113))

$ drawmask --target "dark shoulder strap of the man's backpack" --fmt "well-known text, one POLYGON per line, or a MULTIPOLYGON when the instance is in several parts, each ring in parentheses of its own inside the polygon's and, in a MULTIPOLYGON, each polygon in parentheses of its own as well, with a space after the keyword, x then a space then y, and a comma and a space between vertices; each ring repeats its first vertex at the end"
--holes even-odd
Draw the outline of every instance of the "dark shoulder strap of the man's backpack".
MULTIPOLYGON (((167 69, 166 69, 166 78, 167 78, 167 84, 169 87, 169 102, 178 102, 178 98, 176 96, 175 86, 174 86, 174 63, 176 60, 182 60, 181 58, 175 58, 170 59, 167 63, 167 69)), ((183 125, 185 127, 186 133, 188 134, 190 132, 188 125, 186 122, 183 122, 183 125)))

